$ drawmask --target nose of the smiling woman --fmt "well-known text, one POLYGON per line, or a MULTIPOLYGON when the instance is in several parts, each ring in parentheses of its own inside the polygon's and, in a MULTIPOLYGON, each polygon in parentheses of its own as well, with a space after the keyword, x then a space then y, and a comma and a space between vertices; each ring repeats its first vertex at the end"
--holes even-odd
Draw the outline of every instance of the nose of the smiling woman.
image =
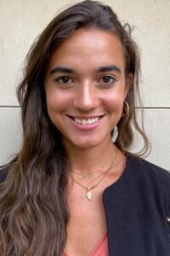
POLYGON ((89 111, 96 108, 97 105, 98 96, 94 84, 90 82, 80 84, 74 99, 74 107, 82 111, 89 111))

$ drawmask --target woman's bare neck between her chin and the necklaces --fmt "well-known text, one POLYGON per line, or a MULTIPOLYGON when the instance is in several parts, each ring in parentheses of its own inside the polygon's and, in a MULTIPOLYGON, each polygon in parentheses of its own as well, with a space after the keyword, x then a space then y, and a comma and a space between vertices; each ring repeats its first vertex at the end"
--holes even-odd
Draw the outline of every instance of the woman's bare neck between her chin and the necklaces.
POLYGON ((93 148, 66 147, 71 172, 105 172, 116 156, 116 146, 110 141, 93 148))

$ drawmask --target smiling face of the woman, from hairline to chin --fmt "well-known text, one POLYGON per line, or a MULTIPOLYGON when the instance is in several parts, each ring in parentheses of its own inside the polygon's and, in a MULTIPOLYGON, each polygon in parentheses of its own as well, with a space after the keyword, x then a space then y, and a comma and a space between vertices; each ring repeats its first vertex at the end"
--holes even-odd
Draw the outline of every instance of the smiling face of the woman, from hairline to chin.
POLYGON ((130 80, 113 32, 78 29, 54 50, 45 75, 48 116, 65 147, 111 142, 130 80))

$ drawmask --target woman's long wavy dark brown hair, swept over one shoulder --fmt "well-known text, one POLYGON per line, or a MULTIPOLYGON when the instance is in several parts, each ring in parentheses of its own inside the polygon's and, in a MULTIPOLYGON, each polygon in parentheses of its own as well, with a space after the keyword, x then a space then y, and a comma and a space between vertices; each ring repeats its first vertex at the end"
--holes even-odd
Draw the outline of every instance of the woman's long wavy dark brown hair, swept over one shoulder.
POLYGON ((48 118, 44 73, 54 49, 78 28, 116 33, 122 42, 126 73, 133 84, 126 101, 129 113, 117 124, 116 146, 127 151, 133 132, 144 138, 135 108, 139 96, 139 54, 130 26, 122 25, 109 6, 86 0, 62 13, 46 27, 26 57, 24 79, 18 87, 23 143, 5 169, 0 184, 0 247, 5 256, 60 256, 65 247, 69 212, 65 200, 67 156, 59 131, 48 118))

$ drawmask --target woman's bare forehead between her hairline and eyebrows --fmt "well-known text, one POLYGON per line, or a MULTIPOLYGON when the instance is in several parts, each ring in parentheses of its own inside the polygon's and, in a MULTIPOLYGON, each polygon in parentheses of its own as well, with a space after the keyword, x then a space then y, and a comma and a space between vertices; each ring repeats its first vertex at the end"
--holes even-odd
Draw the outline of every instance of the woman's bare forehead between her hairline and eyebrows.
POLYGON ((54 49, 48 67, 58 65, 77 70, 92 70, 105 65, 117 65, 123 69, 123 47, 114 32, 81 28, 54 49))

